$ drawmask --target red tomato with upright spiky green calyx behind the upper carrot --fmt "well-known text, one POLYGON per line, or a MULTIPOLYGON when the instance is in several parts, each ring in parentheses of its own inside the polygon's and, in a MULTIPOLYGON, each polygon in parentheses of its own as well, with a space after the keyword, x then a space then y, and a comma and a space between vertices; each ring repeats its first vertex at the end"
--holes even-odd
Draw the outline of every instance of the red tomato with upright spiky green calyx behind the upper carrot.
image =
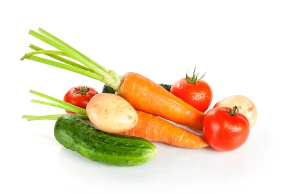
POLYGON ((195 75, 195 69, 193 77, 190 78, 186 74, 186 78, 182 78, 172 85, 170 92, 204 113, 210 107, 212 89, 206 81, 201 80, 205 74, 198 79, 198 74, 195 75))

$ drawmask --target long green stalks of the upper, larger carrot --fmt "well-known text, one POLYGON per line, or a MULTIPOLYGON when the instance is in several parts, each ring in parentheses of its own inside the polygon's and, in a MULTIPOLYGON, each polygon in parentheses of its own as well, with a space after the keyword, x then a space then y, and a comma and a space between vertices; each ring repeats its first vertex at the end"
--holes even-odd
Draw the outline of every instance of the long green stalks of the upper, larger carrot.
POLYGON ((21 60, 29 59, 39 63, 73 71, 95 80, 102 81, 103 83, 112 87, 115 91, 118 90, 123 80, 122 76, 117 75, 113 70, 108 70, 105 67, 97 64, 95 61, 82 54, 77 49, 74 49, 70 45, 66 44, 59 38, 50 34, 49 32, 41 28, 39 28, 38 31, 40 33, 30 30, 29 34, 58 50, 45 50, 31 44, 30 48, 34 49, 35 51, 25 54, 21 60), (45 54, 63 63, 35 56, 38 54, 45 54), (75 63, 61 56, 71 58, 80 62, 81 64, 75 63))

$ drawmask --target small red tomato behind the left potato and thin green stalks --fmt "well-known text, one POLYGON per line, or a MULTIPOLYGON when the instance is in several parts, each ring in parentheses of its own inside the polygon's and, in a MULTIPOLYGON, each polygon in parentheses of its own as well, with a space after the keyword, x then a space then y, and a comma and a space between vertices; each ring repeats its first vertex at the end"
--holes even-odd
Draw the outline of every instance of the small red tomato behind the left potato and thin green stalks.
MULTIPOLYGON (((87 86, 76 86, 70 88, 64 97, 64 101, 80 108, 86 109, 88 102, 92 97, 97 95, 98 92, 92 88, 87 86)), ((72 113, 70 111, 65 111, 66 113, 72 113)))

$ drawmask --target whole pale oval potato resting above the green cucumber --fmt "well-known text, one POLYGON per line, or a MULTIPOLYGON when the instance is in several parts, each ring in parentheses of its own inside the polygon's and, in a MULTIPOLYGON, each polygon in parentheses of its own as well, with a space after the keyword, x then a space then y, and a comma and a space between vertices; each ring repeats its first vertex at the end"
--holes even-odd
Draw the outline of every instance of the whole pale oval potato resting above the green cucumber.
POLYGON ((86 110, 92 124, 104 132, 122 133, 132 129, 138 121, 135 109, 115 94, 95 95, 88 102, 86 110))

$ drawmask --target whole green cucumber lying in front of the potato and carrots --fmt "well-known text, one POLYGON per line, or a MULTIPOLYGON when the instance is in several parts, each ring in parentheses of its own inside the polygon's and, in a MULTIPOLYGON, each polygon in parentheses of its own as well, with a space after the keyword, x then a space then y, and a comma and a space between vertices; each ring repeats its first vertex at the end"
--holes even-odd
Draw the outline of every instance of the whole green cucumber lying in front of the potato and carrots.
POLYGON ((67 149, 109 165, 138 165, 156 156, 156 146, 149 141, 100 131, 74 114, 65 114, 57 119, 54 136, 67 149))

